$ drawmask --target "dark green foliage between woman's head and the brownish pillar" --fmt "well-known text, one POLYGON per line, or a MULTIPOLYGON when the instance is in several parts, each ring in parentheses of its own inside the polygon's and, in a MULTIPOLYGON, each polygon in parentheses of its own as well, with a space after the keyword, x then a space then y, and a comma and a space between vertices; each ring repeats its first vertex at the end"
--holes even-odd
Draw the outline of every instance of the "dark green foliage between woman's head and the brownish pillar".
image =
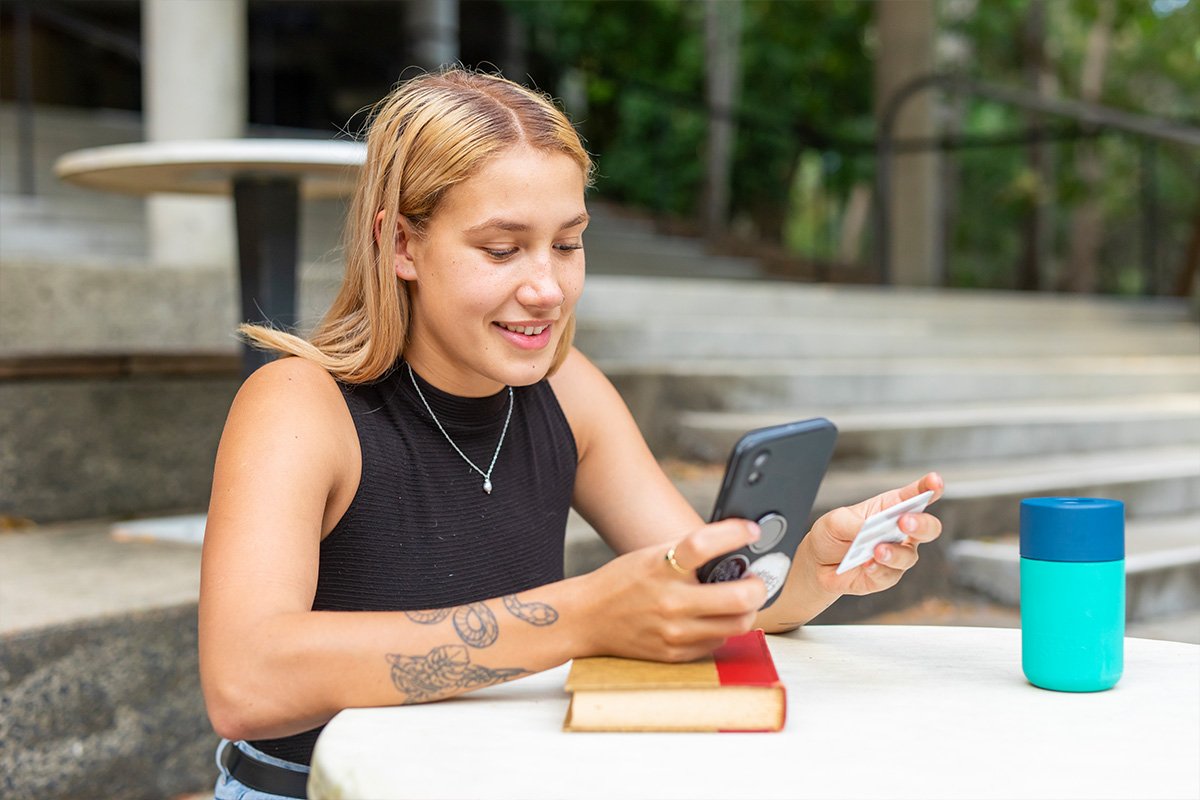
MULTIPOLYGON (((581 71, 581 128, 600 154, 598 190, 674 215, 696 210, 704 181, 704 41, 690 0, 512 0, 532 29, 546 88, 581 71)), ((871 64, 863 2, 743 6, 733 213, 779 235, 805 146, 824 146, 870 114, 871 64), (818 140, 820 139, 820 140, 818 140)))

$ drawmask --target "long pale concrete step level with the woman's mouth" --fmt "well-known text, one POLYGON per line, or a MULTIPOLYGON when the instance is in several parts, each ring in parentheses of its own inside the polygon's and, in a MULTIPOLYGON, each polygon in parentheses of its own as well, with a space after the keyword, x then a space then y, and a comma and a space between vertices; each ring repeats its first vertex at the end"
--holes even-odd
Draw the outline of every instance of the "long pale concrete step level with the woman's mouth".
POLYGON ((792 320, 780 317, 580 319, 576 341, 594 359, 821 359, 932 356, 1200 355, 1200 329, 1187 323, 1073 324, 1004 330, 983 323, 950 329, 919 320, 792 320))

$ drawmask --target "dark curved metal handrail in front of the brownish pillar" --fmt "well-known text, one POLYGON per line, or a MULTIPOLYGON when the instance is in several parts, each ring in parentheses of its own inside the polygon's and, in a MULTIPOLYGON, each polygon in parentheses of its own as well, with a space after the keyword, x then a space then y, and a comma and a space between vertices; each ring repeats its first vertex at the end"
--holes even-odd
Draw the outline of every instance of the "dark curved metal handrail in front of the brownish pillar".
POLYGON ((880 282, 883 284, 892 282, 892 221, 888 199, 892 191, 892 157, 896 150, 892 132, 904 104, 918 92, 932 88, 952 94, 985 97, 1031 112, 1066 116, 1090 126, 1200 148, 1200 128, 1174 120, 1133 114, 1078 100, 1044 97, 1027 89, 997 86, 960 76, 932 73, 913 78, 896 89, 884 104, 880 119, 880 136, 876 140, 875 248, 880 282))

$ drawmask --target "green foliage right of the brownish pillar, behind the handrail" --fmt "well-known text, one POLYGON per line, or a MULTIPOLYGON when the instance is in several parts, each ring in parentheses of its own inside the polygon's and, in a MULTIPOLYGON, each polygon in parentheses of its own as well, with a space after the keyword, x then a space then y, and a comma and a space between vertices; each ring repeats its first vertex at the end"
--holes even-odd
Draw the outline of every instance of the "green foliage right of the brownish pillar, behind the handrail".
MULTIPOLYGON (((1200 125, 1195 101, 1200 97, 1200 10, 1192 0, 1170 13, 1156 12, 1151 0, 1115 0, 1110 49, 1099 103, 1142 115, 1200 125)), ((943 4, 943 10, 946 5, 943 4)), ((1102 4, 1097 0, 1048 0, 1045 43, 1058 95, 1079 97, 1082 70, 1102 4)), ((1020 48, 1030 1, 976 2, 972 13, 943 19, 942 30, 970 42, 973 77, 994 84, 1027 86, 1025 55, 1020 48)), ((1016 131, 1033 122, 1024 113, 995 103, 971 101, 962 127, 971 132, 1016 131)), ((1061 125, 1048 119, 1044 124, 1061 125)), ((955 169, 962 197, 953 209, 949 266, 956 281, 977 285, 1010 287, 1022 252, 1020 231, 1033 199, 1050 204, 1054 248, 1046 281, 1052 285, 1064 269, 1070 248, 1070 221, 1075 209, 1097 204, 1104 217, 1100 249, 1100 289, 1116 293, 1151 290, 1145 263, 1147 237, 1157 240, 1158 272, 1170 283, 1182 264, 1189 227, 1200 209, 1200 154, 1194 148, 1159 144, 1146 160, 1148 140, 1122 133, 1048 145, 1054 181, 1030 193, 1026 148, 996 148, 980 154, 959 154, 955 169), (1080 173, 1081 149, 1092 148, 1102 164, 1098 179, 1080 173), (1144 181, 1146 181, 1144 184, 1144 181), (1144 188, 1157 210, 1157 231, 1146 229, 1144 188), (966 278, 970 273, 972 277, 966 278)), ((1156 216, 1156 215, 1151 215, 1156 216)))

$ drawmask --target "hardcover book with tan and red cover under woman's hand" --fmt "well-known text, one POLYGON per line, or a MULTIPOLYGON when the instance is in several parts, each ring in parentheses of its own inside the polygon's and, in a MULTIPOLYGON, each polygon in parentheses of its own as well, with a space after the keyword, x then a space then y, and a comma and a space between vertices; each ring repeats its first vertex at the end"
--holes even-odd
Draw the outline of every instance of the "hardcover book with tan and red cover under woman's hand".
POLYGON ((688 663, 576 658, 566 691, 564 730, 780 730, 787 712, 761 630, 688 663))

